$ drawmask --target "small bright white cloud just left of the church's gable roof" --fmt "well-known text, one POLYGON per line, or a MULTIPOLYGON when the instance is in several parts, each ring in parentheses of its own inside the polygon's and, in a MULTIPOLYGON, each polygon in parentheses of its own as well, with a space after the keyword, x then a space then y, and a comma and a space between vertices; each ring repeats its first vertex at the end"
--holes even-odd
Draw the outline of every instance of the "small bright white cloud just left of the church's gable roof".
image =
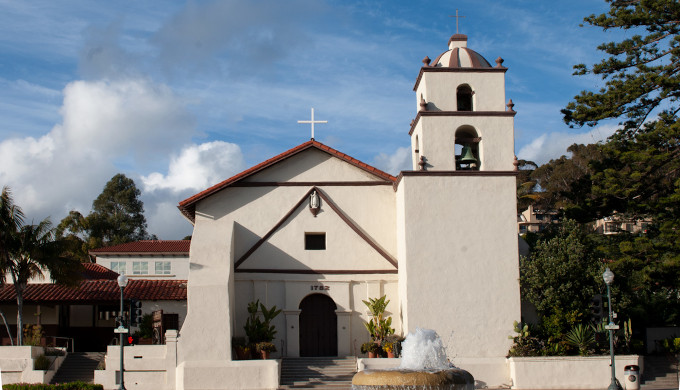
POLYGON ((245 163, 241 148, 223 141, 185 147, 170 160, 168 174, 142 176, 145 191, 200 191, 240 172, 245 163))

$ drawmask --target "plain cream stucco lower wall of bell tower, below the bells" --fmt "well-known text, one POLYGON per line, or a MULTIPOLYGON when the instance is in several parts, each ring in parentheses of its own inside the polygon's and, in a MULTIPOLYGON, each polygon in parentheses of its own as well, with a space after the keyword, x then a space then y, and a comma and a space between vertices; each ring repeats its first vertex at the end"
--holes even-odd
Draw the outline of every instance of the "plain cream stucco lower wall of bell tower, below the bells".
POLYGON ((450 357, 504 357, 520 317, 514 176, 406 176, 398 192, 405 328, 435 329, 450 357))

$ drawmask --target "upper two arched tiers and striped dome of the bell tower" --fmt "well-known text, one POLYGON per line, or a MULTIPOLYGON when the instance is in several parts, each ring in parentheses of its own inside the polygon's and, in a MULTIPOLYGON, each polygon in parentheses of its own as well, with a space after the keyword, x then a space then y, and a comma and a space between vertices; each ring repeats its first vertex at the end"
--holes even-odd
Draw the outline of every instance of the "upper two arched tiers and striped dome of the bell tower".
POLYGON ((507 171, 514 169, 512 101, 505 103, 505 72, 454 34, 449 50, 425 57, 413 90, 413 170, 507 171))

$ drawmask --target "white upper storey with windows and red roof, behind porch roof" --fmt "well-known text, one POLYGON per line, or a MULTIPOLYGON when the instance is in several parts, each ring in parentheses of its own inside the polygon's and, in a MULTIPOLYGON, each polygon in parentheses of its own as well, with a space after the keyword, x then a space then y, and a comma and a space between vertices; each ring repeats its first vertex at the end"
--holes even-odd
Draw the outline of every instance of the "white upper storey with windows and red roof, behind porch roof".
POLYGON ((190 240, 143 240, 91 250, 96 263, 130 279, 189 278, 190 240))

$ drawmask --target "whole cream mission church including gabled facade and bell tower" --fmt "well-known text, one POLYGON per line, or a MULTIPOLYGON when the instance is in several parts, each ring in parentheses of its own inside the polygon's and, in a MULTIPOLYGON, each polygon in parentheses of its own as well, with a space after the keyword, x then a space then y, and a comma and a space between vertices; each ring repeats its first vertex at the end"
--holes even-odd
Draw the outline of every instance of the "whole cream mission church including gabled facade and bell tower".
POLYGON ((177 389, 273 375, 232 357, 251 301, 283 309, 278 356, 348 356, 368 340, 362 300, 382 295, 397 333, 435 329, 456 365, 508 383, 520 296, 507 68, 462 34, 423 63, 412 170, 394 177, 312 139, 180 202, 194 230, 177 389))

